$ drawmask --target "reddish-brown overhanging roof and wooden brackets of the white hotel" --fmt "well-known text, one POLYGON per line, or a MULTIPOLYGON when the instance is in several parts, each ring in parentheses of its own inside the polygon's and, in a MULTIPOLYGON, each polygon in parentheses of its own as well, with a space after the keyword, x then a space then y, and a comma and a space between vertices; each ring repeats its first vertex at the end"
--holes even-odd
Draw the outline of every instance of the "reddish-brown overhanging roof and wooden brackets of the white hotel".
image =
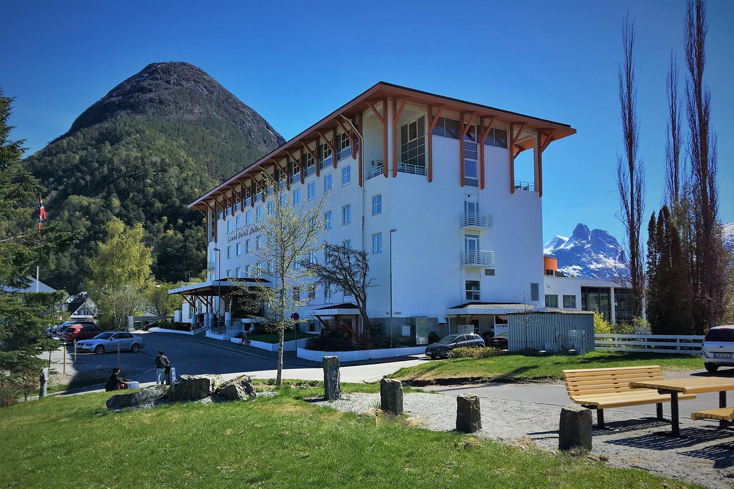
MULTIPOLYGON (((250 180, 251 187, 261 188, 262 183, 261 181, 257 180, 257 177, 253 174, 253 172, 255 172, 258 168, 264 168, 266 166, 274 169, 278 168, 282 172, 287 172, 287 169, 283 168, 283 166, 280 164, 280 161, 283 161, 283 159, 286 159, 286 161, 298 159, 293 157, 294 153, 296 152, 306 151, 310 153, 310 155, 312 155, 314 159, 318 160, 318 158, 316 158, 316 154, 314 153, 318 152, 319 143, 321 141, 324 141, 325 144, 327 144, 329 147, 331 147, 332 150, 334 150, 335 137, 332 136, 332 138, 330 139, 327 137, 327 135, 329 133, 335 134, 340 129, 344 133, 347 133, 349 138, 352 139, 352 151, 354 155, 354 140, 356 140, 358 136, 357 130, 355 129, 355 122, 361 130, 360 119, 364 111, 367 110, 371 110, 375 114, 377 119, 382 122, 382 125, 384 127, 384 161, 385 163, 387 163, 389 149, 387 141, 388 121, 386 117, 387 114, 385 113, 386 107, 383 104, 381 110, 382 114, 380 114, 381 111, 377 110, 376 106, 380 102, 387 101, 388 98, 392 98, 394 100, 394 107, 396 110, 393 113, 396 114, 400 114, 401 109, 404 108, 405 102, 409 101, 412 103, 421 103, 428 106, 430 111, 429 120, 437 120, 442 111, 455 111, 459 112, 459 114, 468 115, 469 122, 466 122, 465 125, 467 128, 472 123, 479 122, 483 130, 485 120, 487 121, 487 129, 490 128, 491 125, 495 122, 505 122, 510 125, 511 129, 511 141, 509 141, 512 147, 512 151, 510 152, 511 159, 514 159, 514 157, 517 156, 517 154, 519 154, 520 152, 524 150, 529 150, 533 147, 533 139, 520 140, 519 138, 520 132, 522 132, 524 128, 535 129, 539 133, 542 133, 543 136, 545 136, 545 141, 542 142, 542 150, 544 150, 545 147, 547 147, 548 144, 551 143, 551 141, 556 141, 558 139, 562 139, 566 136, 571 136, 576 133, 576 130, 570 125, 563 124, 561 122, 540 119, 538 117, 532 117, 526 114, 519 114, 517 112, 497 109, 495 107, 484 106, 478 103, 471 103, 466 100, 459 100, 457 98, 436 95, 429 92, 423 92, 418 89, 401 87, 400 85, 390 84, 385 81, 379 81, 377 84, 374 84, 373 87, 367 89, 365 92, 357 95, 356 98, 344 104, 344 106, 336 109, 331 114, 319 120, 319 122, 316 122, 316 124, 311 125, 310 128, 302 131, 302 133, 299 133, 294 138, 289 139, 288 141, 286 141, 286 143, 282 144, 280 147, 277 147, 272 152, 269 152, 263 158, 255 161, 255 163, 247 166, 247 168, 243 169, 241 172, 234 174, 232 177, 228 178, 228 180, 225 180, 224 182, 217 185, 215 188, 212 188, 211 191, 208 191, 206 194, 200 196, 194 202, 189 204, 189 208, 195 208, 197 210, 200 210, 202 213, 205 213, 207 208, 208 210, 214 211, 214 205, 209 205, 207 201, 211 201, 212 204, 216 203, 217 205, 219 205, 220 200, 225 205, 227 203, 231 204, 234 201, 235 196, 237 195, 237 192, 235 188, 233 188, 233 186, 239 186, 240 192, 243 192, 247 188, 244 185, 244 180, 250 180), (399 106, 397 104, 397 100, 401 101, 400 109, 398 109, 399 106), (435 114, 433 112, 434 109, 437 110, 435 114), (513 126, 518 128, 517 137, 512 136, 513 126), (310 144, 314 141, 316 141, 316 147, 314 149, 311 149, 310 144)), ((463 122, 464 121, 462 121, 462 123, 463 122)), ((396 123, 397 120, 393 122, 393 133, 395 133, 394 125, 396 123)), ((395 155, 396 138, 393 138, 392 151, 393 155, 395 155)), ((393 165, 396 164, 395 160, 396 158, 393 158, 393 165)), ((336 162, 335 158, 333 158, 333 162, 336 162)), ((299 161, 296 161, 296 163, 298 164, 298 166, 300 166, 299 161)), ((432 180, 432 161, 430 154, 428 166, 428 181, 430 182, 432 180)), ((361 151, 359 154, 359 167, 359 184, 362 185, 363 165, 361 151)), ((317 163, 317 174, 319 171, 318 169, 319 165, 317 163)), ((388 172, 388 165, 385 164, 385 177, 388 177, 388 172)), ((393 169, 393 176, 395 176, 395 173, 396 169, 393 169)), ((286 181, 288 181, 287 178, 286 181)), ((249 190, 249 188, 247 189, 249 190)))

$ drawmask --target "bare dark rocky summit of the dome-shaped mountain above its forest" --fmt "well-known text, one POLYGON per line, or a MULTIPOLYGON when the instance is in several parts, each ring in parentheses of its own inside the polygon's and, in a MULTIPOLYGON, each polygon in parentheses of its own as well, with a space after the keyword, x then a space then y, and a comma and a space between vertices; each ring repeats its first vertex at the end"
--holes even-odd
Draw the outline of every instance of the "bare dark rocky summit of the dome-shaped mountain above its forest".
POLYGON ((186 62, 150 63, 82 112, 65 136, 120 114, 224 122, 253 141, 261 152, 285 142, 260 114, 206 71, 186 62))

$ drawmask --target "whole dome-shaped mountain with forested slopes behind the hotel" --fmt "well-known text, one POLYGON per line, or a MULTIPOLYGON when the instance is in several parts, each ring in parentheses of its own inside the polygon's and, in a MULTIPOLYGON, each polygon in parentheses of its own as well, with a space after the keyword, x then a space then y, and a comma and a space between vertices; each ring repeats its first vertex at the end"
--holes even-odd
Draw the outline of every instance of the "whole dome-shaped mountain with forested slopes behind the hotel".
POLYGON ((79 290, 105 224, 142 223, 156 279, 205 265, 203 217, 186 205, 283 138, 202 70, 156 63, 84 111, 68 133, 26 158, 47 189, 46 212, 76 245, 42 275, 79 290))

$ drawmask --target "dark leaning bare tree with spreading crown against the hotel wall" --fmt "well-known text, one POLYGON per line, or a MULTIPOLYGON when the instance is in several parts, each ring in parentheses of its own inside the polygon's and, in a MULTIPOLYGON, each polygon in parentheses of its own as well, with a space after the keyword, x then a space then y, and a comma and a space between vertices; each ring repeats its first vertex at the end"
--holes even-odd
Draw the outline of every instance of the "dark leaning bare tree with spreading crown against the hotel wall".
POLYGON ((370 322, 367 315, 367 289, 373 286, 374 279, 369 276, 367 252, 329 243, 324 243, 323 246, 324 262, 308 262, 306 267, 318 277, 319 284, 324 287, 336 285, 354 296, 363 327, 368 331, 370 322))

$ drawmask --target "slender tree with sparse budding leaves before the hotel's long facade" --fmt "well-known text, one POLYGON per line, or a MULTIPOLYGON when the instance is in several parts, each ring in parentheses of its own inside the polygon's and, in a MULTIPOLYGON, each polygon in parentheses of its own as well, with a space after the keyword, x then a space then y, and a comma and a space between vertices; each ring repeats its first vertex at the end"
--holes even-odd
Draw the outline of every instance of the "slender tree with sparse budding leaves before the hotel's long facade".
MULTIPOLYGON (((296 207, 288 202, 287 195, 279 182, 263 172, 264 187, 272 189, 264 224, 261 226, 262 240, 255 248, 259 261, 258 275, 270 276, 271 286, 260 283, 254 290, 259 301, 266 304, 268 314, 266 328, 278 334, 277 378, 275 385, 283 380, 283 341, 287 329, 294 326, 291 313, 308 302, 306 289, 312 282, 313 273, 304 266, 305 260, 313 261, 319 250, 319 237, 324 229, 321 210, 325 200, 313 207, 305 204, 296 207)), ((245 293, 243 291, 243 293, 245 293)))

